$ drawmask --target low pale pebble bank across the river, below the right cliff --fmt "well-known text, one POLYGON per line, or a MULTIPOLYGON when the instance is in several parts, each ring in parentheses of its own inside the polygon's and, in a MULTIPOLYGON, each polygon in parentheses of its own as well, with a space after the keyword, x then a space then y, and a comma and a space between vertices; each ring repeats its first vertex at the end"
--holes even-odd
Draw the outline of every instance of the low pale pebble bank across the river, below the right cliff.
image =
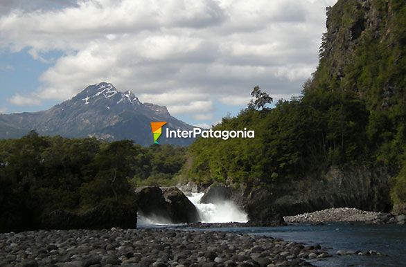
POLYGON ((405 215, 382 212, 368 212, 355 208, 330 208, 317 212, 303 213, 296 216, 283 217, 286 223, 325 223, 332 221, 363 222, 363 223, 398 223, 405 224, 405 215))

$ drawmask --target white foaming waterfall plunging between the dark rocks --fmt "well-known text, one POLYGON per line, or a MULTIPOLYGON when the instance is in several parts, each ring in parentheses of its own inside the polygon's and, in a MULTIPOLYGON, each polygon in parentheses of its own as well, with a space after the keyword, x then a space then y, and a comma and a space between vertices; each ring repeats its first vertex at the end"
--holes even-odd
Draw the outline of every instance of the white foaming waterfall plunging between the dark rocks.
POLYGON ((202 223, 246 223, 248 221, 247 214, 232 201, 204 204, 200 203, 203 195, 204 193, 186 195, 191 203, 196 206, 202 223))

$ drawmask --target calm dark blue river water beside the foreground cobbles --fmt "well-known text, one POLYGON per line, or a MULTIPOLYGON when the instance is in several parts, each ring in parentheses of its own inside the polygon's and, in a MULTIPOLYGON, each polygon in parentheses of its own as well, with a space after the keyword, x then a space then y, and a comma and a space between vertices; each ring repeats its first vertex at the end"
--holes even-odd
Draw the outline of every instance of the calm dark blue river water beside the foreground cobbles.
POLYGON ((406 225, 328 223, 326 225, 288 225, 267 228, 210 228, 211 230, 281 237, 287 241, 320 244, 331 258, 312 261, 315 266, 406 266, 406 225), (337 250, 376 250, 382 255, 336 256, 337 250), (386 255, 386 256, 385 256, 386 255))

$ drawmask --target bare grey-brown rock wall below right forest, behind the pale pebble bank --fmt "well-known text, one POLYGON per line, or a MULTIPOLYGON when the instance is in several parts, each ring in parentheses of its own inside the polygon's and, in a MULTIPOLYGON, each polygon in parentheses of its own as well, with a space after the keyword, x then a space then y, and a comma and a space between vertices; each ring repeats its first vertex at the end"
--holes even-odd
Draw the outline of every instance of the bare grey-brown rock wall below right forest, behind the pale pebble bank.
POLYGON ((273 206, 283 216, 341 207, 389 212, 390 180, 384 167, 331 167, 326 174, 280 188, 273 206))

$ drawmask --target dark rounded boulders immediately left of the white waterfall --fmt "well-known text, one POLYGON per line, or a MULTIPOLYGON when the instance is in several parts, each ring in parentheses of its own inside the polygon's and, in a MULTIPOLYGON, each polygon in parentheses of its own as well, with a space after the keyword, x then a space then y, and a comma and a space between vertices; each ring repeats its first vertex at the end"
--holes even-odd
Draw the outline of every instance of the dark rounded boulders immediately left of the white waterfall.
POLYGON ((147 186, 136 189, 139 212, 158 216, 171 223, 197 223, 197 209, 177 187, 147 186))

